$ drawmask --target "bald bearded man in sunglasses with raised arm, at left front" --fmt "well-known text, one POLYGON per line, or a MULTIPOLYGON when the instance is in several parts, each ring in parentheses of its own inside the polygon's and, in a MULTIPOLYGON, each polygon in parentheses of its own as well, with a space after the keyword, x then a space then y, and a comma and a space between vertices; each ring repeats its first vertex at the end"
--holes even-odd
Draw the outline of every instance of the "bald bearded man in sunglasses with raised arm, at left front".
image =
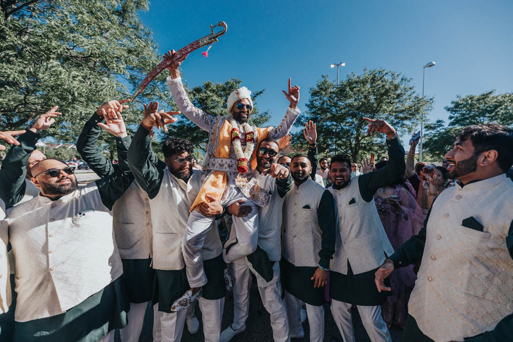
POLYGON ((40 195, 7 211, 18 295, 13 340, 112 341, 114 329, 126 326, 129 303, 111 213, 133 181, 124 126, 120 118, 119 168, 112 174, 78 188, 66 162, 41 160, 31 168, 40 195))

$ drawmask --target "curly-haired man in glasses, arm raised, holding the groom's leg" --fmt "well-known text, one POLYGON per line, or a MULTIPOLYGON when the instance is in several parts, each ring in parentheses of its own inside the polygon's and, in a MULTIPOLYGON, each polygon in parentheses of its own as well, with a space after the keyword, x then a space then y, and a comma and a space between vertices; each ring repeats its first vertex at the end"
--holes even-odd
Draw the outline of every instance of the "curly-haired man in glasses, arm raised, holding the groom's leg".
MULTIPOLYGON (((210 229, 203 236, 205 248, 200 255, 208 277, 203 292, 192 294, 189 290, 183 256, 182 241, 189 207, 201 188, 201 171, 192 168, 194 148, 182 138, 166 139, 162 146, 165 160, 158 162, 164 163, 165 168, 158 167, 153 160, 151 131, 153 127, 175 122, 176 118, 171 115, 175 113, 159 111, 157 103, 150 103, 145 108, 144 118, 128 151, 128 160, 149 204, 152 267, 155 269, 154 339, 180 341, 185 321, 189 327, 186 309, 193 307, 195 299, 202 295, 198 301, 203 313, 205 340, 219 341, 226 288, 218 230, 210 229)), ((216 201, 203 203, 198 210, 209 218, 224 212, 216 201)))

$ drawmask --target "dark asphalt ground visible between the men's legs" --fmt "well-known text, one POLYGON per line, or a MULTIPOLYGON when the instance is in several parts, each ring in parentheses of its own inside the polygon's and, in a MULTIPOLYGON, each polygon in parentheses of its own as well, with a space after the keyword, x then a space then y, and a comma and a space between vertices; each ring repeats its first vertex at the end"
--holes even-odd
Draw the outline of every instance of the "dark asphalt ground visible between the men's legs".
MULTIPOLYGON (((334 342, 334 341, 342 341, 342 336, 339 333, 337 326, 331 316, 331 312, 329 310, 329 306, 327 304, 324 305, 325 319, 325 333, 324 333, 324 341, 334 342)), ((184 333, 182 336, 182 342, 200 342, 203 341, 203 323, 201 318, 201 311, 198 305, 196 305, 196 316, 200 320, 200 331, 194 335, 189 334, 187 331, 187 327, 184 327, 184 333)), ((353 316, 353 329, 354 329, 354 338, 357 341, 370 341, 365 328, 362 325, 362 321, 360 316, 358 315, 358 310, 352 310, 353 316)), ((225 301, 224 314, 223 314, 223 322, 222 328, 227 328, 233 321, 233 300, 225 301)), ((152 341, 152 322, 153 322, 153 311, 151 307, 148 306, 146 310, 146 316, 144 317, 144 325, 143 331, 141 333, 141 337, 139 338, 139 342, 150 342, 152 341)), ((293 342, 300 341, 309 341, 309 327, 308 321, 303 324, 303 328, 305 330, 304 338, 293 338, 293 342)), ((392 336, 392 340, 401 341, 402 330, 398 328, 392 328, 390 330, 390 334, 392 336)), ((119 333, 116 332, 116 342, 120 342, 121 339, 119 337, 119 333)), ((255 286, 255 283, 251 285, 250 289, 250 307, 249 307, 249 317, 246 321, 246 331, 241 334, 235 336, 232 339, 233 342, 272 342, 272 330, 269 323, 269 314, 265 310, 265 308, 260 303, 260 296, 255 286)))

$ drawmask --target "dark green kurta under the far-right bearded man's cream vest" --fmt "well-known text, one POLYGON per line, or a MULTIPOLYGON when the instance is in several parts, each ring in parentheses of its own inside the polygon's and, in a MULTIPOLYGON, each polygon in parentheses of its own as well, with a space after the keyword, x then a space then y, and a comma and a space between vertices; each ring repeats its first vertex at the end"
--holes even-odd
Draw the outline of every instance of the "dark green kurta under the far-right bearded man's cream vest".
MULTIPOLYGON (((435 199, 436 200, 436 199, 435 199)), ((431 205, 432 208, 432 205, 431 205)), ((422 255, 424 254, 424 246, 426 244, 426 227, 429 220, 431 209, 429 209, 426 219, 424 220, 424 227, 420 230, 418 235, 412 236, 405 242, 399 249, 390 256, 393 261, 394 268, 405 267, 411 264, 420 263, 422 255)), ((509 255, 513 259, 513 222, 509 226, 508 236, 505 240, 509 255)), ((408 315, 405 327, 404 341, 429 341, 429 337, 424 335, 419 329, 415 318, 408 315)), ((469 336, 465 341, 472 342, 489 342, 489 341, 507 341, 511 340, 513 336, 513 314, 504 317, 495 327, 494 330, 486 331, 478 336, 469 336)))

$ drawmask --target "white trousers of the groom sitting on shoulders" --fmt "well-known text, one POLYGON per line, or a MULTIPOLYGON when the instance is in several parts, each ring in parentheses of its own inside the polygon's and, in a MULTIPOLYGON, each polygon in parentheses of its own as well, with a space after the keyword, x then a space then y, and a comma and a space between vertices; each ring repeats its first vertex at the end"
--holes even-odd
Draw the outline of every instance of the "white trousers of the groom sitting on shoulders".
MULTIPOLYGON (((246 217, 233 217, 233 226, 230 238, 226 246, 234 245, 226 255, 226 261, 233 260, 253 253, 257 249, 258 241, 258 208, 251 200, 244 197, 239 188, 229 187, 223 196, 221 204, 230 205, 240 199, 252 207, 252 211, 246 217)), ((207 284, 207 277, 203 270, 203 255, 201 249, 205 243, 205 237, 214 223, 214 216, 204 216, 198 210, 193 210, 187 220, 187 229, 182 240, 182 250, 187 271, 189 285, 193 288, 207 284)))

